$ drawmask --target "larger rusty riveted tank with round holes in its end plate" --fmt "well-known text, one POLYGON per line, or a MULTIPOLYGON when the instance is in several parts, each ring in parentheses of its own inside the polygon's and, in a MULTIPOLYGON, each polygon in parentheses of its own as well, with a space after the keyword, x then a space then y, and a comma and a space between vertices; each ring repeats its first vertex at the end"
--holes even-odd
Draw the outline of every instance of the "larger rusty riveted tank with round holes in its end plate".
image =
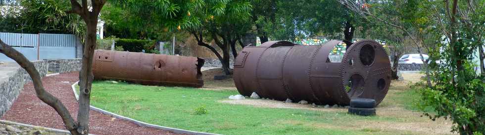
POLYGON ((376 41, 352 44, 341 62, 329 54, 340 40, 320 46, 268 41, 246 46, 234 64, 234 82, 239 93, 284 101, 348 105, 350 99, 374 99, 379 104, 390 84, 390 62, 376 41))

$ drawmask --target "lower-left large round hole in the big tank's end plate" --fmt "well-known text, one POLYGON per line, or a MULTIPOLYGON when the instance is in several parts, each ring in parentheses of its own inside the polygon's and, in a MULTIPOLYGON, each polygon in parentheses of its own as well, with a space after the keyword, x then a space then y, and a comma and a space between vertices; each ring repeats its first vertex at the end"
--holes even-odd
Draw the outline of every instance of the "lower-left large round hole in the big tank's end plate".
POLYGON ((362 77, 362 75, 353 74, 348 79, 345 91, 351 99, 357 98, 364 92, 364 84, 364 77, 362 77))

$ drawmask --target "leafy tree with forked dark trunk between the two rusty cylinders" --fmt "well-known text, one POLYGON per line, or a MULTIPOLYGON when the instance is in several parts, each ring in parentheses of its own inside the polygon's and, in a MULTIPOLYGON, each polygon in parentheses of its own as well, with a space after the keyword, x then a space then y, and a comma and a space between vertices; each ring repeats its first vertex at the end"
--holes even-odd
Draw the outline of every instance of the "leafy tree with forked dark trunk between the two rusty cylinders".
POLYGON ((236 57, 236 43, 251 27, 248 23, 251 8, 248 0, 206 0, 204 6, 193 12, 201 24, 188 27, 188 31, 195 36, 198 45, 210 49, 217 56, 226 74, 231 74, 229 49, 232 48, 236 57), (209 43, 212 40, 222 55, 209 43))

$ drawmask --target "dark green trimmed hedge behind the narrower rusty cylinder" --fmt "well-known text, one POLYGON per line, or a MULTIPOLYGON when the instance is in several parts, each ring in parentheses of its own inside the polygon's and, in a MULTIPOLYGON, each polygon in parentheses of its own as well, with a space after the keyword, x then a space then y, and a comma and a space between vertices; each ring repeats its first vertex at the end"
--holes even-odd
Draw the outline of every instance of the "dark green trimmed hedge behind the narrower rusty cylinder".
POLYGON ((116 39, 115 46, 123 47, 124 51, 129 52, 142 52, 142 50, 147 50, 148 47, 153 45, 155 41, 153 40, 138 40, 138 39, 116 39))

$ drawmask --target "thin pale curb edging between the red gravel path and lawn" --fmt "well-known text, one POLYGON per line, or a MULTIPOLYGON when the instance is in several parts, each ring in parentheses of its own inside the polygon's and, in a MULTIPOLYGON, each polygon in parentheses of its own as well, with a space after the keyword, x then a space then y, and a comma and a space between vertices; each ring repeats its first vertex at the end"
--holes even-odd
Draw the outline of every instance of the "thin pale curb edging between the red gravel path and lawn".
MULTIPOLYGON (((74 84, 71 85, 72 92, 74 93, 74 97, 76 97, 76 100, 77 101, 79 101, 79 95, 76 93, 75 85, 77 85, 78 83, 79 83, 79 81, 77 81, 76 83, 74 83, 74 84)), ((135 124, 137 124, 138 126, 141 126, 141 127, 151 127, 151 128, 155 128, 155 129, 161 129, 161 130, 171 131, 171 132, 178 133, 178 134, 188 134, 188 135, 219 135, 219 134, 203 133, 203 132, 182 130, 182 129, 177 129, 177 128, 170 128, 170 127, 163 127, 163 126, 148 124, 148 123, 145 123, 145 122, 141 122, 141 121, 138 121, 138 120, 135 120, 135 119, 132 119, 132 118, 128 118, 128 117, 125 117, 125 116, 121 116, 121 115, 118 115, 116 113, 112 113, 112 112, 109 112, 109 111, 106 111, 106 110, 97 108, 97 107, 95 107, 93 105, 89 105, 89 108, 91 110, 95 110, 95 111, 100 112, 102 114, 110 115, 110 116, 115 117, 115 118, 118 118, 118 119, 123 119, 123 120, 131 121, 131 122, 133 122, 133 123, 135 123, 135 124)))

